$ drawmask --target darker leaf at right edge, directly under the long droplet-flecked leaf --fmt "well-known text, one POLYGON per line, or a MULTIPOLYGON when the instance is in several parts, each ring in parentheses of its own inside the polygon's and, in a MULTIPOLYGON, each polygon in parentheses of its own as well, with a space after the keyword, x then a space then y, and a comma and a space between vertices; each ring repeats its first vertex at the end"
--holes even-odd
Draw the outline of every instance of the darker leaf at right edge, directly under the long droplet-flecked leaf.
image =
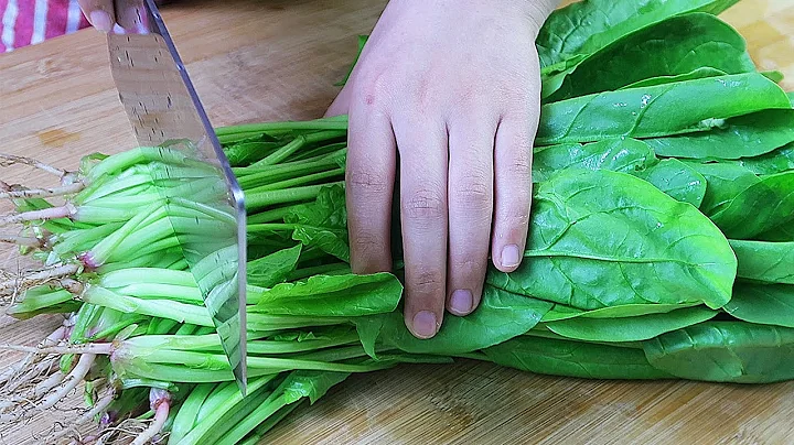
POLYGON ((758 156, 794 141, 794 110, 763 110, 727 119, 700 133, 647 139, 659 156, 729 159, 758 156))

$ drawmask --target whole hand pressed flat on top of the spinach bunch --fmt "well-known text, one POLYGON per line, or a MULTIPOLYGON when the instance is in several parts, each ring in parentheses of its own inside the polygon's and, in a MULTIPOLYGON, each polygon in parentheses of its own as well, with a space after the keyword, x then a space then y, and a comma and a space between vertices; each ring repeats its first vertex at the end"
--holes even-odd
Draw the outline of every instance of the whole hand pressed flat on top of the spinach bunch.
POLYGON ((540 110, 535 39, 555 0, 391 0, 326 116, 347 113, 351 263, 391 270, 399 153, 405 321, 437 334, 480 303, 491 249, 521 263, 540 110))

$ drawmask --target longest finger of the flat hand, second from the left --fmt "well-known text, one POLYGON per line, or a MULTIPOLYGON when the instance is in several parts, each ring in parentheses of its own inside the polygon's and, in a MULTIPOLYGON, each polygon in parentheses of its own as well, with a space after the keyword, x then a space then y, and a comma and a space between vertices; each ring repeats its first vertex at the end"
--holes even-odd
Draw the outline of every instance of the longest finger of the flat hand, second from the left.
POLYGON ((420 119, 394 123, 400 150, 404 316, 416 337, 430 338, 443 321, 447 295, 447 128, 420 119))

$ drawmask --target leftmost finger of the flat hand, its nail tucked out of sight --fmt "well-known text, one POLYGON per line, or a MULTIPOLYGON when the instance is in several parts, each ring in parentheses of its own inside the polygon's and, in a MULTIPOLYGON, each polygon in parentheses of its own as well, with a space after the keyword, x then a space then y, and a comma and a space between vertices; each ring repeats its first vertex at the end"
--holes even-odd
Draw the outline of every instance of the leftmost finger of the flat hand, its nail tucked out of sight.
POLYGON ((351 268, 355 273, 391 270, 390 224, 396 143, 391 123, 364 101, 350 110, 345 169, 351 268))

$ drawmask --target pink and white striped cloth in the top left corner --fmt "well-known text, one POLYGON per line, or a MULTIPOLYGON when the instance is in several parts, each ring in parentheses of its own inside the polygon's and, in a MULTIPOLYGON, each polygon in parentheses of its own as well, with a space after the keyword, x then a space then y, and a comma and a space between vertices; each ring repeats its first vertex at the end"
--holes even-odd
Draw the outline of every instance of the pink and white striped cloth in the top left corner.
POLYGON ((77 0, 0 0, 0 53, 88 25, 77 0))

